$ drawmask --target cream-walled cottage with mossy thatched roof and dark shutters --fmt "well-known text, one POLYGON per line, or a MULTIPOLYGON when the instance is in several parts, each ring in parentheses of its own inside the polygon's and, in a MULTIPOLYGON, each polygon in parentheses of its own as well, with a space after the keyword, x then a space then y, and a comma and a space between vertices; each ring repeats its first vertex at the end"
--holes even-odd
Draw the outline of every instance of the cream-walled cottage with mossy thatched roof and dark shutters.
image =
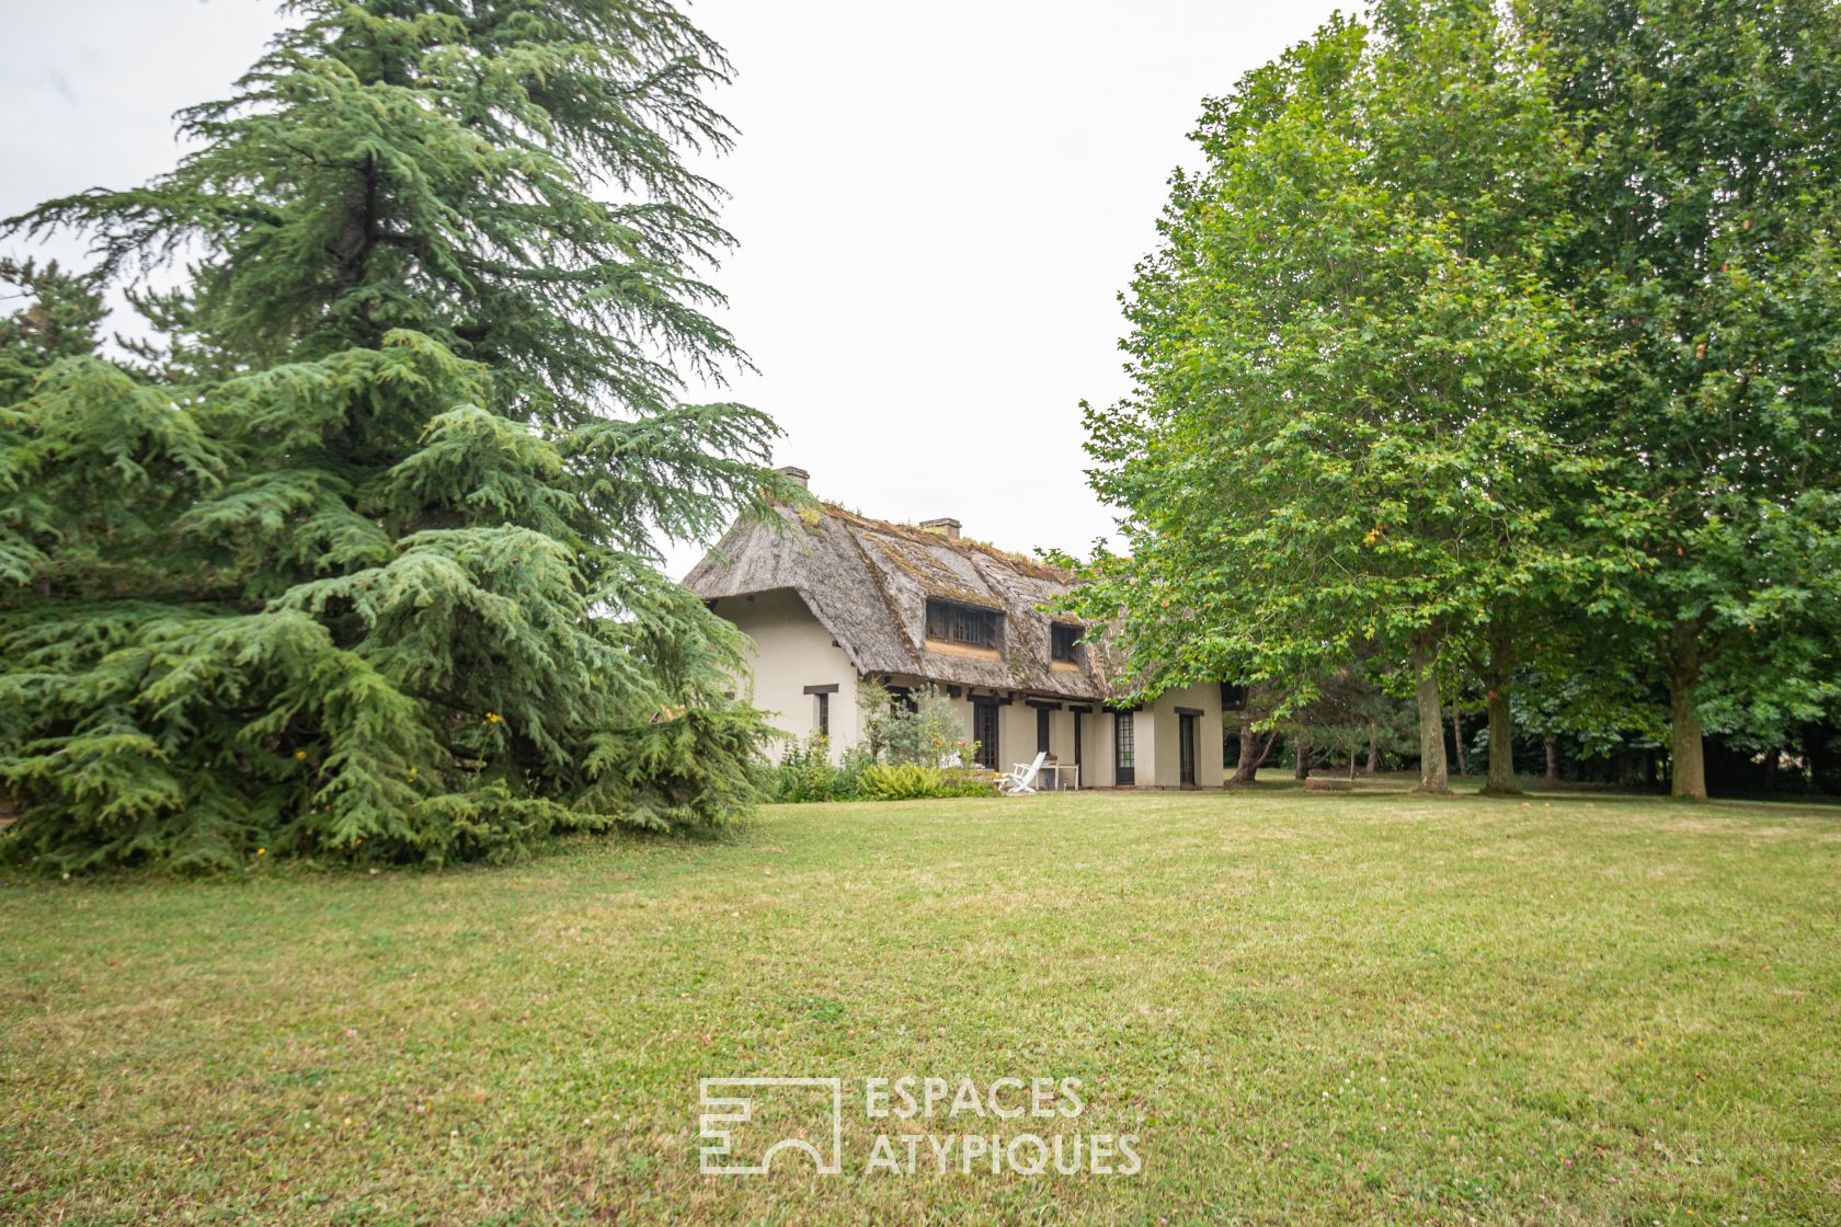
POLYGON ((1222 784, 1222 688, 1114 705, 1105 644, 1040 609, 1066 572, 970 541, 954 519, 889 524, 830 504, 781 515, 784 528, 736 522, 685 585, 753 640, 751 701, 786 734, 823 732, 841 752, 863 736, 862 682, 932 684, 987 767, 1046 751, 1081 787, 1222 784))

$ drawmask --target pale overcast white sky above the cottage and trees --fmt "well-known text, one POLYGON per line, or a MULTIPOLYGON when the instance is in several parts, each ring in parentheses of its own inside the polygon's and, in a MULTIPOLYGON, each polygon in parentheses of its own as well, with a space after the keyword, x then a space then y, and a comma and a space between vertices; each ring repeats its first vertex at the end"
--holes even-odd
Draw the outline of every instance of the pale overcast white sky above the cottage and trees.
MULTIPOLYGON (((740 250, 714 280, 758 366, 733 396, 781 423, 775 460, 823 499, 955 515, 1013 550, 1106 533, 1079 401, 1125 388, 1117 291, 1169 171, 1195 162, 1204 96, 1335 7, 690 6, 738 72, 716 178, 740 250)), ((272 0, 0 0, 0 215, 171 166, 171 112, 221 97, 278 20, 272 0)), ((672 574, 698 554, 674 550, 672 574)))

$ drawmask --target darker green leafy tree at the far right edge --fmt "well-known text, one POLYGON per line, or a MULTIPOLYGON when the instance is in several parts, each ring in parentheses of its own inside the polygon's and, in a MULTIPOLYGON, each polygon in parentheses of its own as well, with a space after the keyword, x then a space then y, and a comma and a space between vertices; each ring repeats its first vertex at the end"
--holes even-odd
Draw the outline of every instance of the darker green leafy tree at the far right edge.
POLYGON ((1701 725, 1780 743, 1841 699, 1841 9, 1528 0, 1580 134, 1554 276, 1600 364, 1572 432, 1618 567, 1592 642, 1701 725))

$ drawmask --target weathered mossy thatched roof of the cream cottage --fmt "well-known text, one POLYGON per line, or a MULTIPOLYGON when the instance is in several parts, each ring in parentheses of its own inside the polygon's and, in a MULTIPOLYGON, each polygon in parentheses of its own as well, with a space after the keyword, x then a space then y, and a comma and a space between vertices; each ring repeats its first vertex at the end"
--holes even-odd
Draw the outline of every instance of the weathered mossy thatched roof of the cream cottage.
POLYGON ((790 589, 830 631, 858 673, 1068 699, 1106 697, 1099 644, 1081 668, 1053 668, 1049 625, 1038 609, 1071 576, 1035 559, 932 528, 873 521, 832 504, 779 510, 779 524, 736 522, 685 576, 703 600, 790 589), (926 648, 928 598, 1003 613, 1000 659, 926 648))

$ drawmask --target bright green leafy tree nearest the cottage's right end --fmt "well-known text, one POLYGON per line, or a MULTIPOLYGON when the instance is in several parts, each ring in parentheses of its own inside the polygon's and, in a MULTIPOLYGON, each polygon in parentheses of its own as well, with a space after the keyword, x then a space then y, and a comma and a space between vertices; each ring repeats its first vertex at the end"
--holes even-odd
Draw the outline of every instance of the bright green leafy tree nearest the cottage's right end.
POLYGON ((1127 300, 1136 390, 1086 412, 1130 554, 1101 550, 1077 609, 1145 694, 1272 679, 1291 708, 1372 653, 1430 675, 1559 583, 1556 508, 1592 473, 1548 419, 1583 373, 1545 276, 1572 151, 1535 53, 1488 4, 1386 4, 1248 74, 1197 140, 1127 300))

